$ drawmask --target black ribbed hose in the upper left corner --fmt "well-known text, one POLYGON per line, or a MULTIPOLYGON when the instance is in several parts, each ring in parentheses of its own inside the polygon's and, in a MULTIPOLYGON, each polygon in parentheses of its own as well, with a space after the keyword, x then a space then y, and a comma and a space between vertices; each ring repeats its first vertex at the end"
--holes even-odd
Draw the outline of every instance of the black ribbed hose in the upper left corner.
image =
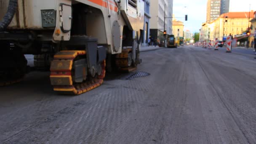
POLYGON ((11 23, 11 20, 13 19, 14 14, 16 13, 17 7, 18 7, 18 0, 10 0, 7 12, 5 13, 5 16, 3 17, 3 20, 0 21, 0 31, 4 31, 8 25, 11 23))

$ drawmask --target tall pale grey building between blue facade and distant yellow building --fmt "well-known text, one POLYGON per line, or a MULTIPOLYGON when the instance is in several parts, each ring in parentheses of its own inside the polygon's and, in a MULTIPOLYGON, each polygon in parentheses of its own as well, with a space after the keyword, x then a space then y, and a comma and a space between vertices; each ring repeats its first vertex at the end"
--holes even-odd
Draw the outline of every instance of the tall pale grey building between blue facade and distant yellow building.
POLYGON ((151 0, 150 1, 150 15, 149 21, 150 36, 159 43, 163 43, 164 26, 168 35, 172 34, 172 22, 170 18, 173 12, 173 0, 151 0), (164 13, 165 11, 165 13, 164 13), (165 24, 164 24, 165 21, 165 24))

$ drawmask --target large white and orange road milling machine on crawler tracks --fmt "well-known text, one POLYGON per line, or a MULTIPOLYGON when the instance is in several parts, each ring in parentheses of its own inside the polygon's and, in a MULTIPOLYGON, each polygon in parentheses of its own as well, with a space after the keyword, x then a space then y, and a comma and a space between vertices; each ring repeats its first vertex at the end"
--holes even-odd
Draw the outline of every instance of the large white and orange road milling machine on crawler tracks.
POLYGON ((0 86, 50 70, 53 90, 79 95, 106 70, 133 71, 144 27, 143 0, 0 0, 0 86), (2 20, 1 20, 2 19, 2 20))

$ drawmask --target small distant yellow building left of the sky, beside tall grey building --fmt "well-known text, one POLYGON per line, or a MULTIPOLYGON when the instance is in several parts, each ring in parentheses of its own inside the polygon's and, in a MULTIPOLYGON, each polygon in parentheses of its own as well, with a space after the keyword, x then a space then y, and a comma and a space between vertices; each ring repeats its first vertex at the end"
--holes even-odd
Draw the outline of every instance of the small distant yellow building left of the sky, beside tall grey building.
POLYGON ((184 24, 182 21, 177 21, 173 16, 173 35, 175 37, 184 37, 184 24))

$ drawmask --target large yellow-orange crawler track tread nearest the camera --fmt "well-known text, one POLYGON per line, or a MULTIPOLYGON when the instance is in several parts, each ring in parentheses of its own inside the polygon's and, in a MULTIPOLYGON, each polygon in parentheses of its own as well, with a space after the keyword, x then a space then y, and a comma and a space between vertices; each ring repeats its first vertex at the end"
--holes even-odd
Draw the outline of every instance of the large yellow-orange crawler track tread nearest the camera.
MULTIPOLYGON (((74 82, 73 62, 79 57, 85 57, 86 51, 60 51, 56 53, 51 63, 51 84, 53 90, 63 94, 79 95, 100 86, 105 77, 106 61, 101 64, 102 70, 100 75, 95 77, 87 76, 82 83, 74 82)), ((86 69, 83 70, 85 75, 86 69)))

